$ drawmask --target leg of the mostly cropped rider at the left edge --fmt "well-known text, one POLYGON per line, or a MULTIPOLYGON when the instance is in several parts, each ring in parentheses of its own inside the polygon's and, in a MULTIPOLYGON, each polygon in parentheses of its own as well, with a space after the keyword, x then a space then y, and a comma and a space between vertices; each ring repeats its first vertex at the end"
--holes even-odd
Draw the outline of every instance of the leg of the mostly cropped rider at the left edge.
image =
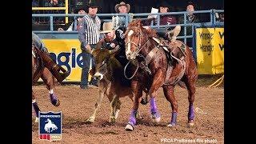
POLYGON ((32 44, 34 44, 34 47, 38 48, 42 53, 40 58, 42 58, 42 61, 44 63, 44 66, 50 72, 54 75, 54 77, 58 80, 58 82, 62 82, 68 75, 68 71, 62 68, 62 66, 58 66, 51 58, 50 54, 48 53, 48 50, 46 49, 46 46, 43 44, 41 39, 38 37, 38 35, 34 34, 32 32, 32 44), (60 70, 62 70, 63 73, 60 73, 60 70))

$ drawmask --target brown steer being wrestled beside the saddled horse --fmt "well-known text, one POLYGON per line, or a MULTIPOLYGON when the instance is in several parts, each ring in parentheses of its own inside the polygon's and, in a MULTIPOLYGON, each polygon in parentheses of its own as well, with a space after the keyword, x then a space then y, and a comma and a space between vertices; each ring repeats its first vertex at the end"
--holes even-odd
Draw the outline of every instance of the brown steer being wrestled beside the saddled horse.
MULTIPOLYGON (((116 58, 115 54, 118 54, 117 50, 107 50, 105 48, 96 47, 92 52, 95 58, 95 70, 90 71, 90 74, 94 75, 99 81, 98 84, 98 98, 95 103, 94 113, 86 120, 88 123, 94 122, 96 118, 96 112, 99 109, 102 98, 104 95, 109 99, 111 112, 110 123, 116 122, 118 113, 121 108, 121 102, 119 98, 129 97, 134 102, 134 94, 130 88, 130 80, 124 78, 123 67, 116 58)), ((141 118, 139 114, 135 116, 141 118)))

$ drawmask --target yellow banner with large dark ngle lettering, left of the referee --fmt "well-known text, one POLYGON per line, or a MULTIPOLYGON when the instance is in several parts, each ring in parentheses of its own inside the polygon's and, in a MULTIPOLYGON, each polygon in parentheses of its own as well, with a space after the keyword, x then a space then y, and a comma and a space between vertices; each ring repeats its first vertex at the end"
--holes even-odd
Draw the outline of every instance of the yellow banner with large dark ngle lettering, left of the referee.
MULTIPOLYGON (((78 39, 42 39, 54 61, 70 75, 63 82, 81 82, 82 50, 78 39)), ((89 76, 90 81, 90 76, 89 76)))

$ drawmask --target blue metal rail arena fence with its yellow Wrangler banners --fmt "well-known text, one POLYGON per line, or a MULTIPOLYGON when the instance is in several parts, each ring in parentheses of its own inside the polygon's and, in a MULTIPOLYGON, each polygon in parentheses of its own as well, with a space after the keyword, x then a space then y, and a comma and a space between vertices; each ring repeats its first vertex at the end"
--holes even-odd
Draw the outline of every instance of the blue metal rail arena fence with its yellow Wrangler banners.
MULTIPOLYGON (((186 14, 188 12, 170 12, 166 14, 176 15, 183 18, 182 23, 175 25, 160 25, 159 17, 156 23, 151 22, 150 26, 157 31, 165 31, 168 28, 180 25, 181 34, 178 39, 188 44, 191 43, 194 58, 198 65, 199 74, 222 74, 224 73, 224 22, 218 22, 216 13, 223 13, 224 10, 197 10, 194 14, 204 14, 202 22, 187 23, 186 14), (190 31, 190 33, 188 33, 190 31)), ((114 17, 123 17, 125 26, 128 26, 134 18, 146 19, 150 15, 165 15, 161 13, 143 14, 97 14, 102 22, 110 22, 114 17)), ((42 41, 46 44, 52 58, 61 66, 70 70, 70 76, 66 82, 80 82, 81 78, 81 49, 78 41, 78 31, 58 31, 54 28, 55 17, 70 17, 77 23, 80 14, 32 14, 33 18, 50 18, 50 30, 34 30, 42 41)), ((201 17, 202 18, 202 17, 201 17)), ((199 19, 200 20, 200 19, 199 19)))

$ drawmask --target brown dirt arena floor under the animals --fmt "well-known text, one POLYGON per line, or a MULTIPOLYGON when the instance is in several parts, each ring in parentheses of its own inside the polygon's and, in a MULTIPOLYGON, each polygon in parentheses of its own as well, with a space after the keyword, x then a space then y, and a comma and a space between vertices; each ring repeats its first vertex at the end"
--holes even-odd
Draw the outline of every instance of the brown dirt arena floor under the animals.
MULTIPOLYGON (((215 79, 216 80, 216 79, 215 79)), ((199 80, 201 82, 203 80, 199 80)), ((125 126, 130 116, 132 102, 129 98, 120 98, 122 102, 117 122, 112 126, 110 102, 103 98, 93 124, 86 124, 94 110, 98 89, 81 90, 78 85, 56 86, 61 105, 52 106, 45 86, 33 86, 37 94, 38 106, 42 111, 62 111, 62 140, 54 143, 224 143, 224 89, 223 87, 207 88, 208 84, 198 84, 196 88, 194 111, 195 125, 187 127, 188 100, 187 91, 175 87, 178 100, 178 126, 166 127, 170 122, 170 103, 164 98, 162 88, 156 98, 161 122, 154 126, 150 121, 150 105, 139 106, 142 120, 134 131, 126 131, 125 126)), ((34 112, 34 110, 32 110, 34 112)), ((38 123, 32 123, 32 142, 51 143, 38 138, 38 123)))

